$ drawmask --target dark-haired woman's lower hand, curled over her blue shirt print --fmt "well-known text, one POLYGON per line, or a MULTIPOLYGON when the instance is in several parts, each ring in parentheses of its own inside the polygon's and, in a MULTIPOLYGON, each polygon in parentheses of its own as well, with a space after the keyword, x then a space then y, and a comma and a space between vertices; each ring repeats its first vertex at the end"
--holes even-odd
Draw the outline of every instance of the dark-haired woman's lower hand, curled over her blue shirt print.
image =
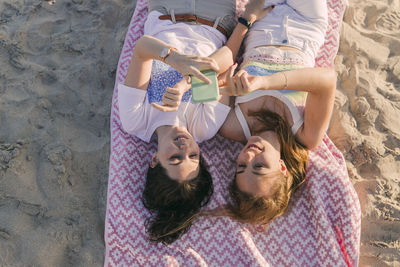
POLYGON ((163 105, 152 103, 151 105, 161 111, 176 111, 182 101, 183 94, 190 89, 190 77, 184 76, 183 79, 175 84, 174 87, 167 87, 162 97, 163 105))

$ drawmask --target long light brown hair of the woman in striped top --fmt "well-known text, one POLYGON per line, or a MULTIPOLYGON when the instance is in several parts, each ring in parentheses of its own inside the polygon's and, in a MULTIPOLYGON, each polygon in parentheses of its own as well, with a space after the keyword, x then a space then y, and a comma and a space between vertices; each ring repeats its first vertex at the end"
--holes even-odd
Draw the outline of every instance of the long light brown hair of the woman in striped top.
POLYGON ((276 133, 281 145, 281 159, 285 162, 288 175, 281 172, 271 174, 277 176, 271 197, 257 197, 242 192, 235 177, 229 187, 232 202, 229 203, 228 210, 230 216, 238 221, 266 225, 286 211, 291 195, 304 182, 308 151, 296 141, 288 123, 279 114, 261 110, 249 115, 261 122, 261 127, 253 134, 264 131, 276 133))

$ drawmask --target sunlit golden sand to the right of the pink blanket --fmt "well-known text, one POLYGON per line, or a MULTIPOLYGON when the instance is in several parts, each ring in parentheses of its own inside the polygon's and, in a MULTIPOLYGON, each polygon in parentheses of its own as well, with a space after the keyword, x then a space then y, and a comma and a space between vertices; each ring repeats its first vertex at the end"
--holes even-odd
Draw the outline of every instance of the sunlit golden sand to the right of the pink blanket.
POLYGON ((360 198, 360 265, 400 266, 400 1, 350 1, 335 62, 330 136, 360 198))

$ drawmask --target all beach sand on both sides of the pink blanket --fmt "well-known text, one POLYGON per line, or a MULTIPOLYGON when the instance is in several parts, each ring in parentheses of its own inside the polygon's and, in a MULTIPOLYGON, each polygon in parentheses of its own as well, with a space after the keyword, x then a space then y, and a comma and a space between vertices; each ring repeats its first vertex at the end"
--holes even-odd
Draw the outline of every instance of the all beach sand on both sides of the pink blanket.
MULTIPOLYGON (((102 266, 115 72, 135 1, 0 2, 0 266, 102 266)), ((400 266, 400 0, 350 0, 329 136, 360 266, 400 266)))

